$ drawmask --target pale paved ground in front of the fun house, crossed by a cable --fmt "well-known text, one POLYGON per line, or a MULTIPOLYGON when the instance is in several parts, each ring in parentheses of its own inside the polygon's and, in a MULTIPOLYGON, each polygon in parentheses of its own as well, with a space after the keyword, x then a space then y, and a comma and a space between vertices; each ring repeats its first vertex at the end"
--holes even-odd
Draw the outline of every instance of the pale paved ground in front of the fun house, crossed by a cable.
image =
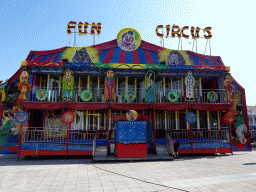
POLYGON ((83 158, 0 155, 0 191, 256 191, 256 147, 234 155, 94 165, 83 158))

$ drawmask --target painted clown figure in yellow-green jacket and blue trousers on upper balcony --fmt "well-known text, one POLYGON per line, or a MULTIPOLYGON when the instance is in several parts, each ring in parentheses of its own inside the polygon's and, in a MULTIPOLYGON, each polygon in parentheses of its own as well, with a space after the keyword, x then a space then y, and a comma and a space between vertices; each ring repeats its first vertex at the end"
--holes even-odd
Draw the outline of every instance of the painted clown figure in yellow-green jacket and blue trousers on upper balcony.
POLYGON ((73 71, 67 69, 65 71, 65 75, 62 78, 64 101, 71 101, 71 99, 73 99, 74 77, 72 76, 72 74, 73 74, 73 71))

